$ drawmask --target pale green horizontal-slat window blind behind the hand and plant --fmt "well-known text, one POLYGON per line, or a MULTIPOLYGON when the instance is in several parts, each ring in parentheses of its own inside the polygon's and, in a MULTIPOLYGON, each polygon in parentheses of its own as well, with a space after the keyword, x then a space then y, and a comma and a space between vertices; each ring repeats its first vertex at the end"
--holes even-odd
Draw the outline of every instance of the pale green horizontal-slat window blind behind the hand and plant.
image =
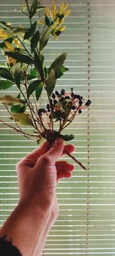
MULTIPOLYGON (((75 165, 73 177, 58 184, 60 214, 48 234, 44 255, 110 256, 115 254, 115 2, 114 0, 67 0, 71 15, 58 42, 50 39, 45 62, 67 52, 66 75, 57 88, 73 87, 90 98, 92 105, 68 128, 75 135, 77 157, 87 167, 75 165)), ((22 0, 0 0, 0 17, 13 24, 27 24, 19 11, 22 0)), ((57 5, 61 1, 55 1, 57 5)), ((51 0, 41 4, 51 6, 51 0)), ((0 55, 1 62, 4 58, 0 55)), ((17 95, 16 86, 1 95, 17 95)), ((43 98, 44 101, 46 100, 43 98)), ((8 123, 8 112, 0 105, 8 123)), ((29 131, 25 127, 26 131, 29 131)), ((0 123, 0 224, 18 202, 16 162, 37 147, 0 123)), ((70 158, 64 159, 73 163, 70 158)))

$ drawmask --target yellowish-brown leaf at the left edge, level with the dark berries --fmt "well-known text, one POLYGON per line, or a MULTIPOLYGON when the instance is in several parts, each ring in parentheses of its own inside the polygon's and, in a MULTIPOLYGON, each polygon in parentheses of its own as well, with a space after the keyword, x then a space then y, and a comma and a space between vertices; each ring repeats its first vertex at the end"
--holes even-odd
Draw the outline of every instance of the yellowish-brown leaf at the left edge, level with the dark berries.
POLYGON ((11 95, 5 95, 0 97, 0 103, 6 105, 18 105, 19 103, 25 105, 25 101, 21 100, 20 98, 13 97, 11 95))

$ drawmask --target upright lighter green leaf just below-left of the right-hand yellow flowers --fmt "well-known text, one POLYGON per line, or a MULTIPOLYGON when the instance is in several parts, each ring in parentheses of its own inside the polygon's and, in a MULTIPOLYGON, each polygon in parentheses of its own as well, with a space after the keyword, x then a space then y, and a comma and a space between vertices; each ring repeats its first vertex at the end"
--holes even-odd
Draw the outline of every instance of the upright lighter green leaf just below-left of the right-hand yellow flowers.
POLYGON ((44 32, 41 34, 40 38, 40 52, 48 43, 49 36, 51 35, 52 26, 46 28, 44 32))

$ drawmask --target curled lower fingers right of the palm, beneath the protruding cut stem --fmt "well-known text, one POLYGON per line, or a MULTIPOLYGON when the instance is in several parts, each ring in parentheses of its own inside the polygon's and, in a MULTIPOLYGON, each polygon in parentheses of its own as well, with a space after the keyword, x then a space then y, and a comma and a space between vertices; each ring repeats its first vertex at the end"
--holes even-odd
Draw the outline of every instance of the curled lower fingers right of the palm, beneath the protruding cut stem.
POLYGON ((67 161, 57 161, 57 180, 61 178, 71 178, 71 171, 74 171, 74 165, 69 164, 67 161))

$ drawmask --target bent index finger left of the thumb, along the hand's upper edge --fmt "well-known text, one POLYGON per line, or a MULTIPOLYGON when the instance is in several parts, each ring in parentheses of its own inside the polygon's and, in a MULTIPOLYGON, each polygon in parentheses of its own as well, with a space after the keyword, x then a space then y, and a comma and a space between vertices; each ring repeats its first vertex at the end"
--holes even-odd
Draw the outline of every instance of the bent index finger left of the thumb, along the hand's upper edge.
POLYGON ((22 158, 21 161, 18 161, 16 167, 21 168, 24 167, 24 165, 34 167, 36 161, 38 161, 38 158, 41 157, 41 155, 44 155, 50 147, 51 146, 49 145, 48 141, 45 141, 43 145, 40 145, 30 154, 26 155, 25 158, 22 158))

